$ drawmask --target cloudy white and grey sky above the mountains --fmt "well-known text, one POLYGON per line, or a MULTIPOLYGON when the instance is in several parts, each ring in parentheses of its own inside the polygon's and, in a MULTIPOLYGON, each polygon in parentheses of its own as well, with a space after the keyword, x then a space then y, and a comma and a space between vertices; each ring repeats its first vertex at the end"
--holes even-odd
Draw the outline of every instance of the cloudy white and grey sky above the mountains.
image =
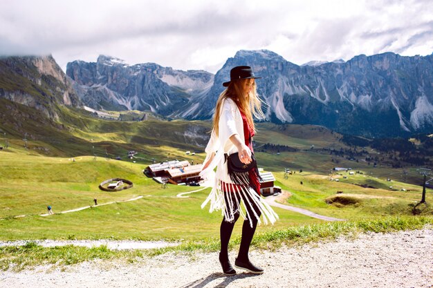
POLYGON ((216 73, 238 50, 294 64, 433 52, 432 0, 0 0, 0 55, 109 55, 216 73))

